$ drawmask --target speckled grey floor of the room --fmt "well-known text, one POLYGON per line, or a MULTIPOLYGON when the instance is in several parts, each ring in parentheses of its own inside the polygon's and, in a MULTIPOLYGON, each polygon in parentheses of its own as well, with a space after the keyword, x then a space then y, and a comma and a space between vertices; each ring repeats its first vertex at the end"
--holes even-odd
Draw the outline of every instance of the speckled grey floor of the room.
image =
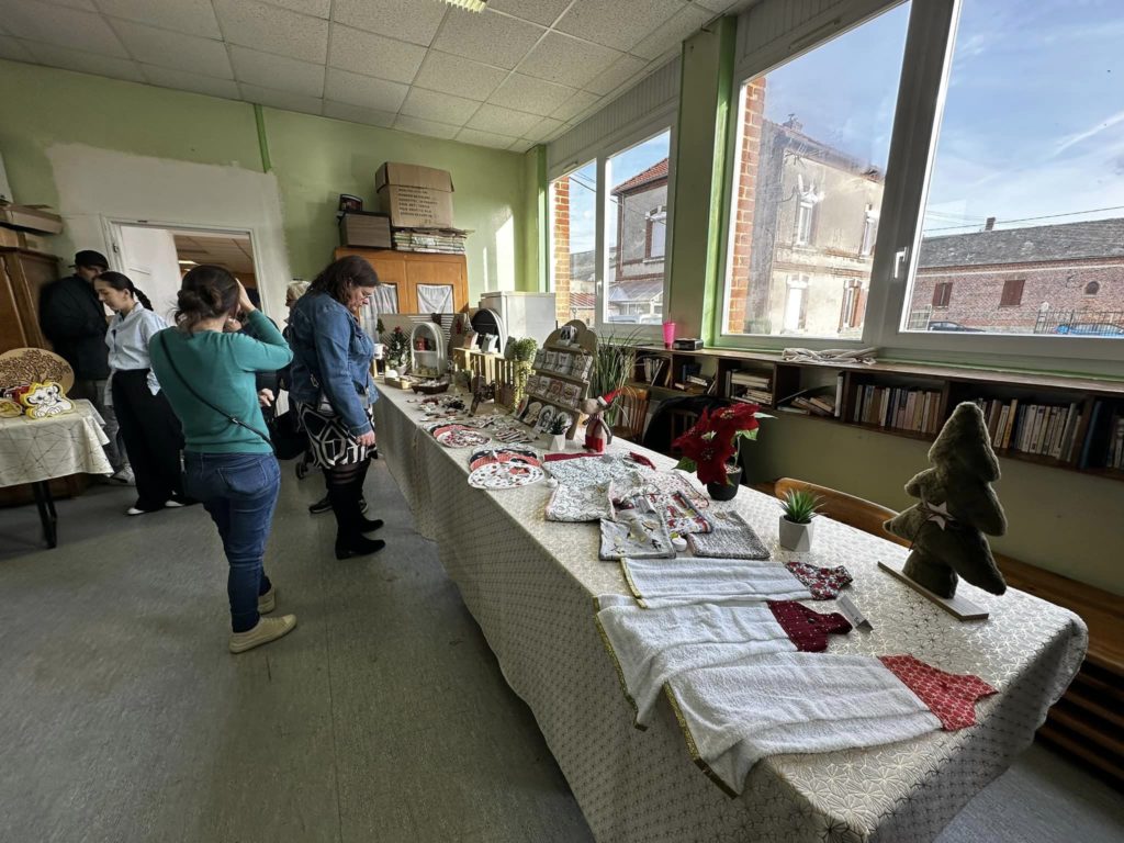
MULTIPOLYGON (((389 546, 360 562, 284 475, 269 570, 300 626, 237 658, 201 509, 125 518, 96 487, 52 552, 0 510, 0 841, 590 840, 384 464, 389 546)), ((1120 841, 1120 803, 1035 747, 941 841, 1120 841)))

